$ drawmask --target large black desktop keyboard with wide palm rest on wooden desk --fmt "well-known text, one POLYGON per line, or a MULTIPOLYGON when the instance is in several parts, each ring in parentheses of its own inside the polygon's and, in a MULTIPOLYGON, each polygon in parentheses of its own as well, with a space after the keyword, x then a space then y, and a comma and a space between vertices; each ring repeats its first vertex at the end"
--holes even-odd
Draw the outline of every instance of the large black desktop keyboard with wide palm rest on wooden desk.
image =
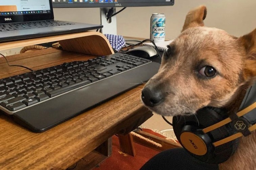
POLYGON ((27 129, 43 132, 146 82, 159 67, 117 53, 0 79, 0 109, 27 129))

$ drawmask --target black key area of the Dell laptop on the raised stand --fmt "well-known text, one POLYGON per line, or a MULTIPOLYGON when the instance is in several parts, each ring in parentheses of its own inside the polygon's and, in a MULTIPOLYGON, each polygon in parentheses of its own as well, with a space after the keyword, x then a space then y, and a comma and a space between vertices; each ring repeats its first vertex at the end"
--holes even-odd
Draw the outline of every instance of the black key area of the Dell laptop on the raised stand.
POLYGON ((41 22, 27 22, 27 23, 15 23, 15 24, 1 24, 0 31, 12 31, 12 30, 51 27, 51 26, 64 26, 64 25, 72 25, 72 24, 74 23, 60 22, 60 21, 41 21, 41 22))

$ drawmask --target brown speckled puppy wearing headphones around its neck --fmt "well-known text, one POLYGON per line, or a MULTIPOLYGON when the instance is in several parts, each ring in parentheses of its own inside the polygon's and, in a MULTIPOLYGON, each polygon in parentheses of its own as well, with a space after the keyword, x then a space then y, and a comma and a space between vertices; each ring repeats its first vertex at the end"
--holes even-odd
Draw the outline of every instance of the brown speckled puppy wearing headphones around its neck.
MULTIPOLYGON (((144 104, 165 115, 193 114, 205 106, 236 112, 256 79, 256 29, 236 38, 204 27, 206 7, 191 10, 181 34, 168 46, 158 73, 142 91, 144 104)), ((256 133, 241 137, 220 170, 256 169, 256 133)))

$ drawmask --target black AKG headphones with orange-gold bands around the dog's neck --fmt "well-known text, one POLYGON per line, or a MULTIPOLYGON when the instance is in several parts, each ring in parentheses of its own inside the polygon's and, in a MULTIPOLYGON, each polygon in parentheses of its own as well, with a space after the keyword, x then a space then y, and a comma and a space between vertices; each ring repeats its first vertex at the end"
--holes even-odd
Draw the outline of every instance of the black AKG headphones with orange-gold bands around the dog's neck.
POLYGON ((238 146, 238 138, 256 130, 256 83, 242 101, 239 112, 227 116, 224 108, 204 107, 194 115, 173 116, 174 133, 195 158, 219 164, 228 160, 238 146))

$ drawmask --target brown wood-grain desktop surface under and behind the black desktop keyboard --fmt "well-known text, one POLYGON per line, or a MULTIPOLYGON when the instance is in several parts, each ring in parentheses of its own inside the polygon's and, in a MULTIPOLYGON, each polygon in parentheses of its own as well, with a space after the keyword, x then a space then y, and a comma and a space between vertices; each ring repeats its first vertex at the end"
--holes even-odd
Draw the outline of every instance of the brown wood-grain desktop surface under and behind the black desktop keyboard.
MULTIPOLYGON (((93 56, 49 48, 9 56, 8 60, 10 64, 38 70, 90 58, 93 56)), ((0 78, 25 72, 28 70, 9 67, 0 58, 0 78)), ((143 122, 151 116, 152 113, 140 101, 142 88, 143 86, 138 86, 43 133, 32 133, 0 113, 0 169, 67 169, 86 155, 94 153, 93 150, 108 141, 112 135, 129 131, 138 121, 143 122)), ((97 154, 91 157, 95 155, 97 154)), ((91 162, 90 166, 95 164, 91 162)), ((87 168, 91 168, 90 166, 87 168)))

